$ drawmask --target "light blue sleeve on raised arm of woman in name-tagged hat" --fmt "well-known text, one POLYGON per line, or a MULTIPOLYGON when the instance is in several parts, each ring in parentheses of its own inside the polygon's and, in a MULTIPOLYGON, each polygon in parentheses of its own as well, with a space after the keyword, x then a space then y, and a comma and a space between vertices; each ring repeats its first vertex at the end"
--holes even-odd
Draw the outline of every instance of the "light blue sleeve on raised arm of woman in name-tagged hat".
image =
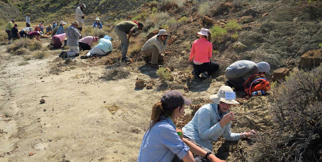
POLYGON ((198 112, 198 132, 200 139, 211 139, 220 131, 221 126, 219 122, 216 123, 214 126, 211 126, 211 113, 205 108, 200 109, 198 112))

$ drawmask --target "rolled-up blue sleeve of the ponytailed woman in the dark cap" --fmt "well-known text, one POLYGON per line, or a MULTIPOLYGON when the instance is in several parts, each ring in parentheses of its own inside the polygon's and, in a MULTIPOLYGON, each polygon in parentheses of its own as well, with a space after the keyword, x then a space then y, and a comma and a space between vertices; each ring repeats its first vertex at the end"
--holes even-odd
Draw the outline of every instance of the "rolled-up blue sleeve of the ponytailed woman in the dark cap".
POLYGON ((179 159, 183 159, 189 151, 189 147, 183 143, 175 129, 171 125, 165 125, 160 129, 160 142, 170 149, 179 159))

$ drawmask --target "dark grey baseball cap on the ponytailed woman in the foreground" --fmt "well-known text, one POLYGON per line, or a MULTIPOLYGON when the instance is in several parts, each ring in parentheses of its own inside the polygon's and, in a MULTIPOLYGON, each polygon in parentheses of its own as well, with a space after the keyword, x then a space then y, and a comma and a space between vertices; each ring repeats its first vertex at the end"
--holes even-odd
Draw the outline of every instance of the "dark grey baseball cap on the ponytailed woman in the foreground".
POLYGON ((165 109, 174 109, 183 104, 191 105, 191 100, 185 98, 181 92, 177 90, 168 90, 161 98, 162 106, 165 109))

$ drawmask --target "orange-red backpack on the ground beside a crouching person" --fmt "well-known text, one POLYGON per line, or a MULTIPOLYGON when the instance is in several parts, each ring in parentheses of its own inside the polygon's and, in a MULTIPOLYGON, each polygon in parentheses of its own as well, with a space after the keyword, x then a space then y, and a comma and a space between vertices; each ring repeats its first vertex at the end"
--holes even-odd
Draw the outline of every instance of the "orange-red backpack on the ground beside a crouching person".
POLYGON ((265 92, 269 91, 270 82, 267 81, 267 79, 264 76, 260 74, 255 74, 251 76, 247 81, 245 81, 243 87, 248 97, 250 97, 252 96, 251 92, 255 92, 259 90, 264 90, 265 92), (256 77, 260 77, 260 78, 256 79, 256 77))

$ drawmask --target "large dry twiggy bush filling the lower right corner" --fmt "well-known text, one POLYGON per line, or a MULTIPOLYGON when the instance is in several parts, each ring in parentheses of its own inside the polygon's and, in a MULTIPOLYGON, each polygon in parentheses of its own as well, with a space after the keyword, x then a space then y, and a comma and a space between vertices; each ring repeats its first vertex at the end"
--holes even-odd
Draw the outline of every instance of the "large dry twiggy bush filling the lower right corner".
POLYGON ((322 67, 291 73, 273 98, 274 134, 255 139, 249 161, 321 161, 322 67))

